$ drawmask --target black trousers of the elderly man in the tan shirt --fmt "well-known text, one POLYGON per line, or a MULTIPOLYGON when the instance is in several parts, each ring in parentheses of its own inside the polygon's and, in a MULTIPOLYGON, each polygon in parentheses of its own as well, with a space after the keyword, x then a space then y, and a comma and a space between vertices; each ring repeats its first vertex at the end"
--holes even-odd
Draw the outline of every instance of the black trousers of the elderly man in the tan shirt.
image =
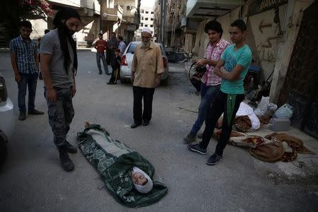
POLYGON ((134 122, 150 121, 153 112, 153 93, 155 88, 141 88, 133 86, 134 92, 134 122), (143 108, 142 108, 143 100, 143 108), (142 111, 143 110, 143 111, 142 111))

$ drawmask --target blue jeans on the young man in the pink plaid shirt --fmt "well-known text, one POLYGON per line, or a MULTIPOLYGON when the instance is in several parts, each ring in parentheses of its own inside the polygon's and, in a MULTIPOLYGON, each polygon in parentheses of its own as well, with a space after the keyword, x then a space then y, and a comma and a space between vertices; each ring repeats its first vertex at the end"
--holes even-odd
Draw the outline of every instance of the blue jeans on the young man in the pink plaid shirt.
POLYGON ((198 117, 192 126, 192 133, 196 134, 200 130, 204 120, 206 119, 208 109, 210 108, 213 100, 216 98, 216 95, 218 95, 219 91, 220 85, 205 86, 204 83, 201 83, 201 102, 199 105, 198 117))

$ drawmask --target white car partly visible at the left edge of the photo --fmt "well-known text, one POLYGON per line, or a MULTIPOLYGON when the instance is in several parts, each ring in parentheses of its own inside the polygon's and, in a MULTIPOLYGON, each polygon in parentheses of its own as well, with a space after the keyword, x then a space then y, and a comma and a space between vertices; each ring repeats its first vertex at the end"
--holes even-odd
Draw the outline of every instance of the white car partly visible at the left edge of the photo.
POLYGON ((8 98, 6 81, 0 75, 0 165, 6 160, 8 138, 13 134, 13 104, 8 98))

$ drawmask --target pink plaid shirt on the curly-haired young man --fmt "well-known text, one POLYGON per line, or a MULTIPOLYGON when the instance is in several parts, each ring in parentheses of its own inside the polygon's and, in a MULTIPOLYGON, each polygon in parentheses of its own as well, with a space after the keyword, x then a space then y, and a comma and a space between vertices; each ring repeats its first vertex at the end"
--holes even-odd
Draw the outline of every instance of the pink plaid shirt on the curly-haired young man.
MULTIPOLYGON (((216 45, 212 45, 210 42, 208 47, 206 47, 206 59, 218 61, 220 55, 223 53, 224 49, 230 45, 230 42, 224 40, 223 38, 216 45)), ((202 76, 201 81, 205 86, 216 86, 221 83, 222 78, 217 76, 214 71, 214 67, 206 65, 206 73, 202 76)))

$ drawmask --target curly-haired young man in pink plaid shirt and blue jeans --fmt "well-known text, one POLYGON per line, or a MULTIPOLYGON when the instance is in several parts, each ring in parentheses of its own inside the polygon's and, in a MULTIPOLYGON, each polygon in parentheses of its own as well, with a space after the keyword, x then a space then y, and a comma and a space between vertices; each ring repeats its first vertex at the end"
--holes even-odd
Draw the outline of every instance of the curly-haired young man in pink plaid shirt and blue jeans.
POLYGON ((220 90, 221 78, 213 70, 216 64, 218 64, 218 60, 224 49, 230 45, 230 42, 221 38, 223 29, 218 21, 212 20, 206 23, 204 31, 208 34, 210 42, 208 43, 208 47, 206 47, 206 57, 198 59, 196 65, 206 66, 206 73, 201 78, 201 102, 198 117, 192 126, 192 130, 184 138, 186 143, 192 143, 196 140, 196 134, 206 119, 208 108, 220 90))

